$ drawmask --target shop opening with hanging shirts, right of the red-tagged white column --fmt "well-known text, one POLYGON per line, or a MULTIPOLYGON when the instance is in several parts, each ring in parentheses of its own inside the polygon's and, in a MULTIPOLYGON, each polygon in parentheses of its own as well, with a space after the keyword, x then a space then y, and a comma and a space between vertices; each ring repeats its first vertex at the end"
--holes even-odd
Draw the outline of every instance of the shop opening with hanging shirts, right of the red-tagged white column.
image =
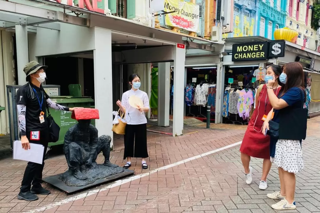
MULTIPOLYGON (((211 53, 211 52, 210 52, 211 53)), ((184 116, 206 121, 207 107, 210 106, 210 121, 215 121, 217 82, 219 84, 219 65, 221 58, 218 54, 199 56, 186 55, 184 76, 184 116)), ((171 78, 174 79, 172 64, 171 78)), ((171 85, 174 91, 174 84, 171 85)), ((172 100, 172 93, 170 93, 172 100)), ((172 102, 170 103, 172 104, 172 102)))

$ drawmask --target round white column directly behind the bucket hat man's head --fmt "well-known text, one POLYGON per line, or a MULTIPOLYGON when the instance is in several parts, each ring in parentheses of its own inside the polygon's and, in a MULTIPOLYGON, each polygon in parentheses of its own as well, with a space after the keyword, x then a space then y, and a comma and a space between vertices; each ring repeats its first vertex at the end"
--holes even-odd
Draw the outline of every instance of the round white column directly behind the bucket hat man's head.
POLYGON ((24 85, 26 84, 26 74, 23 72, 23 67, 29 63, 27 26, 16 25, 15 29, 18 64, 18 84, 24 85))

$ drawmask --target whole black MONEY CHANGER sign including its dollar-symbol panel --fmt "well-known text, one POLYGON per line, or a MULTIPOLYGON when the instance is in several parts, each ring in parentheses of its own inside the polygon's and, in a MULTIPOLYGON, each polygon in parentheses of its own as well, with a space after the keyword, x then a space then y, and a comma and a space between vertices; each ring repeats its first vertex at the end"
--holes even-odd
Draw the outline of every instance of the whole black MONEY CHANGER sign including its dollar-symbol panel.
POLYGON ((240 43, 232 45, 232 61, 267 60, 273 57, 284 57, 285 42, 265 41, 240 43))

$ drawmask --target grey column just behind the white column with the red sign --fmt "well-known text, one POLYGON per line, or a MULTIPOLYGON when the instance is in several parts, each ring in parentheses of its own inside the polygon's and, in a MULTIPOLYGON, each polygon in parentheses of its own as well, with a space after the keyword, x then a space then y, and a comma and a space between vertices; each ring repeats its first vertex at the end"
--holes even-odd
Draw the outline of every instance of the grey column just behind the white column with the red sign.
POLYGON ((169 126, 170 62, 158 63, 158 126, 169 126))

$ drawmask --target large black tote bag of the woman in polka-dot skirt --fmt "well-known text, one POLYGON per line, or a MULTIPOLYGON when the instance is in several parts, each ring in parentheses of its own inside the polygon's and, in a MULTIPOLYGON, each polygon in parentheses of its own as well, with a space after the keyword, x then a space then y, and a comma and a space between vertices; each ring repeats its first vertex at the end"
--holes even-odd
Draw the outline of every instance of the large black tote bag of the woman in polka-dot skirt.
POLYGON ((279 111, 279 139, 305 140, 307 135, 308 109, 304 109, 301 93, 301 107, 286 107, 279 111))

